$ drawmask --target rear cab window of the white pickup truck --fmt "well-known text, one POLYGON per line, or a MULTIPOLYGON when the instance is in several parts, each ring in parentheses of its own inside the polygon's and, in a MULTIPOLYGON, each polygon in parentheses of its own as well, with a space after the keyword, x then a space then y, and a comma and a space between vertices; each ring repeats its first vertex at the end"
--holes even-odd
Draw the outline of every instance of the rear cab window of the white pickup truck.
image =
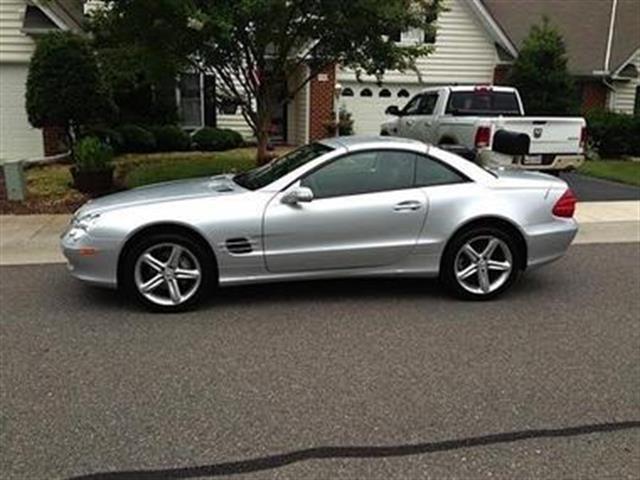
POLYGON ((475 90, 451 92, 446 113, 474 116, 521 116, 518 98, 514 92, 475 90))

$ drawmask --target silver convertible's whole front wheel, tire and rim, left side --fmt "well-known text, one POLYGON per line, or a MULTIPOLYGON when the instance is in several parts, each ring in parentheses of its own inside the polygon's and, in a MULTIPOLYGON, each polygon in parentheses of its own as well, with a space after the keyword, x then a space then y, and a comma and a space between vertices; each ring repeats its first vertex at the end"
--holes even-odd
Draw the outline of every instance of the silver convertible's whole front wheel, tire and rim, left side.
POLYGON ((213 268, 206 248, 180 234, 152 234, 125 253, 124 290, 146 308, 178 312, 210 291, 213 268))

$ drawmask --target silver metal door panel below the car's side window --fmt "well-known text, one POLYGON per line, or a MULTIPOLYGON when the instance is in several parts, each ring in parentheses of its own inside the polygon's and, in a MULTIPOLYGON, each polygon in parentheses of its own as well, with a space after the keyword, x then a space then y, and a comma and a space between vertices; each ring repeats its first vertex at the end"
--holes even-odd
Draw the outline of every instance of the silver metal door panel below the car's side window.
POLYGON ((427 212, 419 188, 288 205, 276 196, 264 217, 270 272, 381 267, 407 256, 427 212), (402 209, 403 203, 415 209, 402 209))

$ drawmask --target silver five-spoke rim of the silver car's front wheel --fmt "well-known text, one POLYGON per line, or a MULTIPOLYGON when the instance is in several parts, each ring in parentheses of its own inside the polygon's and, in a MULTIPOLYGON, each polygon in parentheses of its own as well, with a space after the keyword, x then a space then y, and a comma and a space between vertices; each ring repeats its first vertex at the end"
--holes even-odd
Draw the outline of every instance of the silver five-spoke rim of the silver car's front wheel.
POLYGON ((198 290, 202 268, 187 248, 162 243, 140 255, 134 275, 138 291, 148 300, 157 305, 180 305, 198 290))

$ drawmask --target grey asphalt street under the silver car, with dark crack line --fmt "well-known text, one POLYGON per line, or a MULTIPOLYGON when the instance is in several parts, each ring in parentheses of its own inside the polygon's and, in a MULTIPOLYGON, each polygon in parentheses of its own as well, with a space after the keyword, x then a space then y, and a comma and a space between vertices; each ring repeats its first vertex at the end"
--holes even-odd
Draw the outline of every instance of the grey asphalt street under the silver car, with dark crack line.
POLYGON ((637 479, 639 272, 577 246, 494 302, 340 281, 158 316, 2 267, 0 476, 637 479))

